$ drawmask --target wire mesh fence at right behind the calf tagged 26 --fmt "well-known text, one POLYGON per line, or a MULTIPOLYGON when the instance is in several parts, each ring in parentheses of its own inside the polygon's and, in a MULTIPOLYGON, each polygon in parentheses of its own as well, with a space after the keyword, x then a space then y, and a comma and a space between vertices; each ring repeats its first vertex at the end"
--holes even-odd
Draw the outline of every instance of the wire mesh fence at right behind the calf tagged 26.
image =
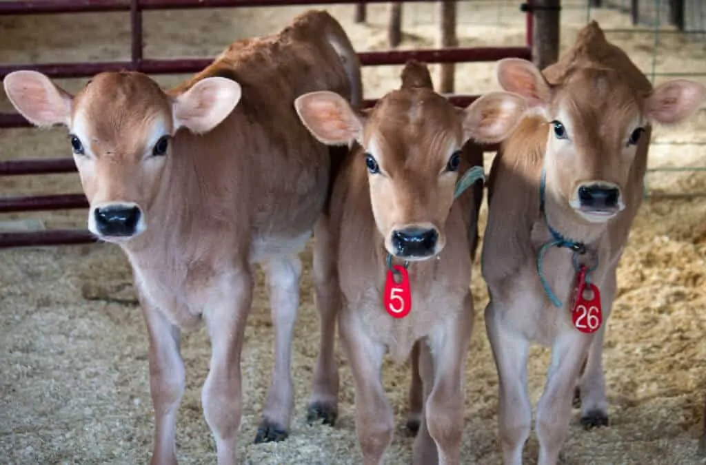
MULTIPOLYGON (((706 85, 706 2, 603 0, 585 2, 653 85, 686 78, 706 85)), ((650 195, 706 195, 706 106, 676 128, 655 128, 645 189, 650 195)))

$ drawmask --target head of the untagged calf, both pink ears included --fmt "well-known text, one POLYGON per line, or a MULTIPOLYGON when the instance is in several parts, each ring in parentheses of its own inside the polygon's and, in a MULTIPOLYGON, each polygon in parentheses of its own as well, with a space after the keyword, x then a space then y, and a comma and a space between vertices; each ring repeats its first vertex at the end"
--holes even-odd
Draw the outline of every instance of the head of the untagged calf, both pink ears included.
POLYGON ((145 231, 179 128, 210 131, 234 109, 241 89, 205 78, 167 95, 141 73, 100 73, 75 96, 35 71, 4 80, 14 107, 35 126, 63 124, 90 202, 88 228, 105 241, 145 231))

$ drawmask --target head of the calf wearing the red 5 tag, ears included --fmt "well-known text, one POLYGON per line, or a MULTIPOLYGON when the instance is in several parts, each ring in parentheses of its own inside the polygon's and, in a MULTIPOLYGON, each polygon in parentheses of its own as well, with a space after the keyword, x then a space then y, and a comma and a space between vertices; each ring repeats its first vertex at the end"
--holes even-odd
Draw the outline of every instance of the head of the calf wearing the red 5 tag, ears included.
POLYGON ((398 258, 424 260, 446 243, 461 147, 469 138, 502 140, 527 105, 518 95, 493 92, 458 109, 433 91, 426 66, 412 61, 402 71, 400 90, 369 111, 354 111, 333 92, 302 95, 295 107, 321 142, 358 143, 352 150, 357 162, 366 165, 373 215, 385 248, 398 258))

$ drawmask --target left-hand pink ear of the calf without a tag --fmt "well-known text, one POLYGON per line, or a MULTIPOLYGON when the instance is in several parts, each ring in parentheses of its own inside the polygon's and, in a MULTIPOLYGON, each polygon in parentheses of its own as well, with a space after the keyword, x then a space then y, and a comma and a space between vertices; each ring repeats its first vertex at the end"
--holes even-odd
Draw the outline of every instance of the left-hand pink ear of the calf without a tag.
POLYGON ((30 123, 40 128, 71 123, 71 94, 37 71, 13 71, 3 81, 5 93, 30 123))

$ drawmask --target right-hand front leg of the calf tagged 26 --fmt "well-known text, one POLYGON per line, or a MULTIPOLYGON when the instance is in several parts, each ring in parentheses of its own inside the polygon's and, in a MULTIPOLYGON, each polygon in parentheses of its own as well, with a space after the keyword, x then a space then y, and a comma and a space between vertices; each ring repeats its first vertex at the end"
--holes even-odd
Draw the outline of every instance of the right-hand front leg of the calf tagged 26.
POLYGON ((574 387, 592 339, 573 327, 566 327, 551 348, 546 387, 537 403, 538 465, 558 462, 569 430, 574 387))

